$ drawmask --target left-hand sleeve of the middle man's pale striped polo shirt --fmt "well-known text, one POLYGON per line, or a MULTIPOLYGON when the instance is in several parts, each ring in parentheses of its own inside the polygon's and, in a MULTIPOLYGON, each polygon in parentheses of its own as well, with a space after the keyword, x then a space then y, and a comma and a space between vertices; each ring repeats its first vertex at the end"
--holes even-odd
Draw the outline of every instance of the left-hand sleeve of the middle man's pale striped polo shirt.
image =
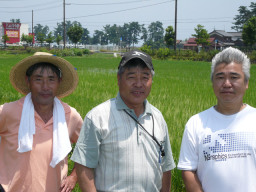
POLYGON ((99 147, 99 129, 86 116, 71 160, 89 168, 96 168, 99 160, 99 147))

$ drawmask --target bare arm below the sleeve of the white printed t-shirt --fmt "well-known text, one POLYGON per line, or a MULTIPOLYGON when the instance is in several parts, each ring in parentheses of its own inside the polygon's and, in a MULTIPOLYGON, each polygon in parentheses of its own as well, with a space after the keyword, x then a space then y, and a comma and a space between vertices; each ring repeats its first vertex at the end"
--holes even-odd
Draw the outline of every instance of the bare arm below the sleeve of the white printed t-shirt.
POLYGON ((187 192, 203 192, 202 185, 195 171, 182 171, 182 178, 187 192))

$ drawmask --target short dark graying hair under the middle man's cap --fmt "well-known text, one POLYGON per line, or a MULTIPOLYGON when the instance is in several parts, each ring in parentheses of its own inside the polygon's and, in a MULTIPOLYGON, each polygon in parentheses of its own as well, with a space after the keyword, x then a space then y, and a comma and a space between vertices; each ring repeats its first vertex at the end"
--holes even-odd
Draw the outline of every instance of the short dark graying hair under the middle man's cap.
MULTIPOLYGON (((133 67, 148 68, 143 60, 141 60, 139 58, 135 58, 135 59, 131 59, 130 61, 128 61, 124 66, 120 66, 117 74, 121 76, 126 69, 130 69, 133 67)), ((152 69, 150 71, 151 71, 151 75, 153 77, 155 74, 155 71, 152 69)))

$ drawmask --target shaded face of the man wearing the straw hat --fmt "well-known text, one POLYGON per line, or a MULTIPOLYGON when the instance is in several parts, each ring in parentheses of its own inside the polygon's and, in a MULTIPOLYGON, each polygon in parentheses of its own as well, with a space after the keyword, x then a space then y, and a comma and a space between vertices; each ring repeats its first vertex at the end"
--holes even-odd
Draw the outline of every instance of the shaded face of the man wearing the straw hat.
POLYGON ((27 79, 34 105, 52 105, 60 80, 50 68, 38 68, 27 79))

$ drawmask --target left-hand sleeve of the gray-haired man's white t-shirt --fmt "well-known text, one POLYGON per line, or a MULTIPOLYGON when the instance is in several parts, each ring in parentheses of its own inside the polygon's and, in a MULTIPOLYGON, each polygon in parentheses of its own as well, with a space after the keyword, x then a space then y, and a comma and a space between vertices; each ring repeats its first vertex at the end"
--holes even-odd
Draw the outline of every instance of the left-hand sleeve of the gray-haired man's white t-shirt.
POLYGON ((195 138, 193 123, 186 124, 182 138, 179 163, 177 168, 180 170, 196 170, 198 166, 198 150, 195 138))

